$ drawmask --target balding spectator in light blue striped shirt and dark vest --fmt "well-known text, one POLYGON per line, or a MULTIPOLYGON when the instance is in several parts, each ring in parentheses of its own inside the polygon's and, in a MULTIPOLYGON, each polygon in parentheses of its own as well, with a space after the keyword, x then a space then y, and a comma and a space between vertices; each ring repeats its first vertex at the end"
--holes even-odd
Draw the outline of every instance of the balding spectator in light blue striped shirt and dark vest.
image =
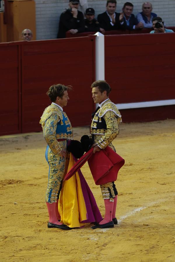
POLYGON ((152 4, 145 2, 142 5, 142 12, 136 15, 138 22, 142 22, 144 28, 152 28, 152 20, 157 16, 155 13, 151 13, 152 9, 152 4))

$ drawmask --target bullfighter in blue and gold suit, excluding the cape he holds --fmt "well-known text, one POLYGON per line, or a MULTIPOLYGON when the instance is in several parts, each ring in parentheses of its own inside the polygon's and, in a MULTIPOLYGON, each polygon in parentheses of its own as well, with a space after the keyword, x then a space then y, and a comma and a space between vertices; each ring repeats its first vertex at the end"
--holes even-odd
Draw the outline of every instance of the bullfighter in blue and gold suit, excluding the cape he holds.
POLYGON ((58 221, 60 220, 58 200, 66 166, 67 139, 73 138, 71 123, 63 111, 63 107, 67 105, 69 100, 67 93, 69 89, 69 86, 62 84, 50 86, 47 95, 52 104, 44 110, 40 120, 43 135, 48 144, 45 153, 49 164, 49 181, 46 191, 46 204, 49 213, 48 227, 64 230, 70 228, 58 221))

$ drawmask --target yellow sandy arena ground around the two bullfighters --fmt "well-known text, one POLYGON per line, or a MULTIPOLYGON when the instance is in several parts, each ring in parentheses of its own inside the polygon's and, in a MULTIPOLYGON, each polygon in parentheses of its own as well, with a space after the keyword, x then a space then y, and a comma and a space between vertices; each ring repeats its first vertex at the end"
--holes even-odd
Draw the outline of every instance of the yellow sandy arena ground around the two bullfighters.
MULTIPOLYGON (((89 128, 74 128, 75 139, 89 128)), ((0 137, 1 261, 175 261, 175 120, 122 123, 114 141, 125 159, 116 182, 113 229, 48 229, 48 164, 42 133, 0 137)), ((82 169, 101 214, 101 190, 82 169)))

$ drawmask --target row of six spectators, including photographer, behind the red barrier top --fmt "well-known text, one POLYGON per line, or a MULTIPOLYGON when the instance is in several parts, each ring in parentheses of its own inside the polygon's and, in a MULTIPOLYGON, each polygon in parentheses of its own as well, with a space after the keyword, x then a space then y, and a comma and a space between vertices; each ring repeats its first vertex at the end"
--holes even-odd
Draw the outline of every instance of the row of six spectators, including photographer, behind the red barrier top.
POLYGON ((125 2, 122 12, 117 13, 115 12, 117 1, 107 0, 106 10, 97 16, 97 20, 93 8, 86 9, 83 19, 83 13, 78 10, 79 3, 79 0, 69 0, 69 8, 60 16, 57 38, 85 36, 97 31, 104 35, 174 32, 167 29, 162 18, 152 12, 153 6, 150 2, 144 2, 142 12, 135 17, 132 14, 134 8, 132 3, 125 2))

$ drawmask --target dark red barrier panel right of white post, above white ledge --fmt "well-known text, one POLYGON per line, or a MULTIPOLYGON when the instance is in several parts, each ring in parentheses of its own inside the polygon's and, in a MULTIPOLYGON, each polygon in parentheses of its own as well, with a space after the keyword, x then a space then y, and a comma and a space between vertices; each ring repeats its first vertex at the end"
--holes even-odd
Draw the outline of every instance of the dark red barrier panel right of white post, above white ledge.
POLYGON ((175 98, 175 34, 105 36, 113 102, 175 98))

